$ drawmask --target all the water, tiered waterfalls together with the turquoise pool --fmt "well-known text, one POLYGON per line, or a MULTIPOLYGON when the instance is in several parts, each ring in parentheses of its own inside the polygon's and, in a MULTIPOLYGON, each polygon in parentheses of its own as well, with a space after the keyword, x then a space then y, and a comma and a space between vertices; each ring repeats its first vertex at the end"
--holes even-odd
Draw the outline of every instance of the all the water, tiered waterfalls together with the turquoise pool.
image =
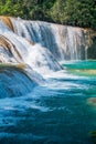
POLYGON ((0 144, 90 144, 96 61, 65 61, 87 59, 87 31, 0 19, 0 144))

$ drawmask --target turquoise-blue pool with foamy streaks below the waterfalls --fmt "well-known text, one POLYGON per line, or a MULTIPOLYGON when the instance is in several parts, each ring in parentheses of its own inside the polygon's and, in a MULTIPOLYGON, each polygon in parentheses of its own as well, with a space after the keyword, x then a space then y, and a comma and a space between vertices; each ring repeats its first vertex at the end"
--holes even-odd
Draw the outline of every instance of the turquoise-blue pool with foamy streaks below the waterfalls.
POLYGON ((65 62, 66 70, 23 96, 0 99, 0 144, 94 144, 96 61, 65 62), (87 71, 86 71, 87 70, 87 71), (92 73, 90 73, 92 72, 92 73))

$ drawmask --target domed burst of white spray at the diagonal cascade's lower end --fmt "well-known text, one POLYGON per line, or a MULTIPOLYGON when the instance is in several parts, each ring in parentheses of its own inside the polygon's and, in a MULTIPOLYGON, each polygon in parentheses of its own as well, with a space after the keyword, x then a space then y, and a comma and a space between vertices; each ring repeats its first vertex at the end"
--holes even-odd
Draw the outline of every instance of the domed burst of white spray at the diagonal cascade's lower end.
POLYGON ((28 58, 25 58, 25 62, 41 74, 47 74, 61 70, 60 64, 51 52, 40 44, 34 44, 32 47, 28 58))

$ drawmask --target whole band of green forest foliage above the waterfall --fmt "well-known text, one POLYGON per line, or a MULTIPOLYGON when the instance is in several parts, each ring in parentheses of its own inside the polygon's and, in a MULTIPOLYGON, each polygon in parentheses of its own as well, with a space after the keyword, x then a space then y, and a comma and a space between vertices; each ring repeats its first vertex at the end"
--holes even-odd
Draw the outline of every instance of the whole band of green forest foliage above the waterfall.
POLYGON ((0 14, 96 29, 96 0, 0 0, 0 14))

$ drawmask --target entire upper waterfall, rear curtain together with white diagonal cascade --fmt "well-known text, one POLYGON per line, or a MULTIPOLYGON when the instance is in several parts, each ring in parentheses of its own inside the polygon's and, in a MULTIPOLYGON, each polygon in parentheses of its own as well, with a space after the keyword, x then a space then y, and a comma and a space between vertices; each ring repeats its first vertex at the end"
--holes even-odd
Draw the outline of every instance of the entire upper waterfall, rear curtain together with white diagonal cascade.
POLYGON ((81 28, 0 17, 0 61, 25 63, 42 75, 61 70, 63 60, 87 59, 81 28))

